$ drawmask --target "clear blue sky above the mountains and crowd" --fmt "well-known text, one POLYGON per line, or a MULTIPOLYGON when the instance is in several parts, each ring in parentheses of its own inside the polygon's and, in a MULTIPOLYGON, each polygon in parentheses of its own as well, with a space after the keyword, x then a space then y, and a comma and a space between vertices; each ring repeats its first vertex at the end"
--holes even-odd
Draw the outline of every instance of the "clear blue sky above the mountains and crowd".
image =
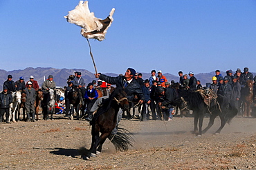
MULTIPOLYGON (((0 1, 3 70, 82 68, 94 72, 80 28, 64 16, 79 1, 0 1)), ((116 8, 102 42, 90 40, 98 72, 256 72, 255 0, 91 0, 95 17, 116 8)))

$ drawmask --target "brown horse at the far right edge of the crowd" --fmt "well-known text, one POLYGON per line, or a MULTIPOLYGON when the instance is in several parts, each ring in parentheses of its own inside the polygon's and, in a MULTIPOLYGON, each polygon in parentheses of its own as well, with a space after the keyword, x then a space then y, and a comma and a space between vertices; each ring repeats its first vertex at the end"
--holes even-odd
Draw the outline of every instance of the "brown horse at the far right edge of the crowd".
POLYGON ((246 81, 246 87, 241 89, 241 100, 244 104, 244 117, 251 117, 250 105, 253 103, 253 81, 246 81))

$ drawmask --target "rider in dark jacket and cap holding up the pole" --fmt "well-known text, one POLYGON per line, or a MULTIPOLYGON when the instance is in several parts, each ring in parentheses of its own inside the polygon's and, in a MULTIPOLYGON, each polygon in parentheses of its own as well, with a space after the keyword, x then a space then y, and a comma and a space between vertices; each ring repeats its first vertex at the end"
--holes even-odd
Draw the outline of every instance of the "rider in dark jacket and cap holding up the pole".
MULTIPOLYGON (((112 85, 116 85, 118 88, 124 88, 125 93, 127 94, 127 98, 129 101, 134 100, 134 96, 138 96, 139 103, 143 103, 145 100, 145 97, 143 95, 142 89, 140 85, 137 83, 137 81, 134 79, 134 74, 136 74, 136 71, 133 68, 128 68, 125 72, 125 76, 117 76, 117 77, 111 77, 106 76, 104 74, 95 74, 95 78, 100 78, 102 81, 106 81, 107 83, 110 83, 112 85)), ((102 100, 101 98, 98 98, 98 100, 102 100)), ((93 111, 95 111, 98 108, 98 105, 96 104, 98 102, 95 102, 95 105, 91 108, 91 111, 89 112, 89 116, 86 118, 86 120, 91 121, 93 119, 93 111)), ((122 110, 118 111, 118 120, 117 125, 120 122, 122 118, 122 110)))

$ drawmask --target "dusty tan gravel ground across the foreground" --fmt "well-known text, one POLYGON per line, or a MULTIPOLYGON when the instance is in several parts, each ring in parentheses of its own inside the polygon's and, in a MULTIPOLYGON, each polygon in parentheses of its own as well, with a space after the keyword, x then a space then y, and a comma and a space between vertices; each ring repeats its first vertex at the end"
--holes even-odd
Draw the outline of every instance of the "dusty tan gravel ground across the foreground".
POLYGON ((193 118, 124 119, 121 125, 136 140, 133 148, 116 152, 107 140, 100 156, 82 160, 80 148, 88 149, 91 142, 88 123, 55 117, 0 125, 0 169, 256 169, 255 118, 234 118, 213 135, 217 118, 201 137, 190 132, 193 118))

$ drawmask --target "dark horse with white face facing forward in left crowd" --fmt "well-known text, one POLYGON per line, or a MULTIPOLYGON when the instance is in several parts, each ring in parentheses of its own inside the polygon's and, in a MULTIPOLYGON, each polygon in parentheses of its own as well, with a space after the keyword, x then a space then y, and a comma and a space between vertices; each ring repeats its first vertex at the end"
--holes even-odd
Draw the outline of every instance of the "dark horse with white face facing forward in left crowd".
POLYGON ((44 99, 42 100, 44 120, 49 119, 51 114, 51 120, 53 120, 53 114, 55 113, 55 90, 49 89, 48 93, 44 93, 44 99))

